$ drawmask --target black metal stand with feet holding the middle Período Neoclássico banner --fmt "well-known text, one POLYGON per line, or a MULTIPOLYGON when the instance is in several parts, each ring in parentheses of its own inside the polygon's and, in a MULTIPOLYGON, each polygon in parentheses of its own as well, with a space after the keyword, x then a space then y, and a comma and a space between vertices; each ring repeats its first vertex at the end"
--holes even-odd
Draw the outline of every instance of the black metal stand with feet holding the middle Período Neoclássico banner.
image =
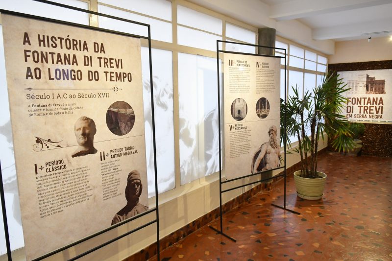
MULTIPOLYGON (((282 206, 279 206, 279 205, 276 205, 276 204, 271 204, 272 206, 274 206, 274 207, 277 207, 277 208, 280 208, 280 209, 283 209, 283 210, 287 210, 287 211, 289 211, 289 212, 291 212, 291 213, 294 213, 294 214, 300 214, 300 213, 298 213, 298 212, 296 212, 296 211, 293 211, 293 210, 290 210, 290 209, 288 209, 288 208, 286 208, 286 135, 284 135, 283 136, 283 144, 284 144, 284 166, 281 166, 281 167, 277 167, 277 168, 274 168, 274 169, 269 169, 269 170, 265 170, 265 171, 260 171, 260 172, 257 172, 257 173, 253 173, 253 174, 249 174, 249 175, 245 175, 245 176, 242 176, 242 177, 238 177, 238 178, 234 178, 234 179, 230 179, 230 180, 224 180, 224 181, 222 181, 222 164, 221 164, 221 101, 220 101, 220 85, 221 85, 221 83, 220 83, 220 71, 219 71, 219 53, 220 52, 222 52, 222 53, 234 53, 234 54, 242 54, 242 55, 253 55, 253 56, 264 56, 264 57, 274 57, 274 58, 282 58, 282 57, 280 57, 280 56, 275 56, 275 55, 265 55, 265 54, 253 54, 253 53, 245 53, 245 52, 234 52, 234 51, 226 51, 226 50, 221 50, 220 48, 219 48, 219 43, 228 43, 228 44, 236 44, 236 45, 244 45, 244 46, 251 46, 251 47, 265 47, 265 48, 270 48, 270 49, 279 49, 279 50, 284 50, 284 53, 285 53, 285 57, 284 57, 284 59, 285 59, 285 100, 286 100, 286 71, 287 71, 287 65, 286 65, 286 49, 284 49, 284 48, 277 48, 277 47, 269 47, 269 46, 260 46, 260 45, 252 45, 252 44, 243 44, 243 43, 236 43, 236 42, 229 42, 229 41, 221 41, 221 40, 217 40, 217 70, 218 70, 218 126, 219 126, 219 209, 220 209, 220 230, 219 229, 216 229, 216 228, 214 228, 214 227, 212 227, 212 226, 209 226, 211 229, 213 229, 213 230, 215 230, 216 232, 218 232, 219 234, 221 234, 221 235, 223 235, 223 236, 225 236, 225 237, 227 237, 227 238, 229 238, 230 240, 233 240, 234 242, 236 242, 237 240, 235 239, 235 238, 233 238, 233 237, 230 237, 230 236, 228 236, 228 235, 226 235, 225 233, 223 233, 223 221, 222 221, 222 193, 224 193, 224 192, 227 192, 227 191, 230 191, 230 190, 236 190, 236 189, 239 189, 239 188, 243 188, 243 187, 245 187, 245 186, 249 186, 249 185, 253 185, 253 184, 257 184, 257 183, 261 183, 261 182, 263 182, 263 181, 267 181, 267 180, 271 180, 271 179, 273 179, 273 178, 278 178, 278 177, 284 177, 284 204, 283 204, 283 207, 282 206), (268 172, 268 171, 272 171, 272 170, 275 170, 275 169, 281 169, 281 168, 284 168, 284 170, 283 170, 283 173, 282 174, 279 174, 279 175, 275 175, 275 176, 273 176, 273 177, 271 177, 271 178, 266 178, 266 179, 262 179, 261 178, 261 173, 265 173, 265 172, 268 172), (247 184, 245 184, 245 185, 241 185, 241 186, 237 186, 237 187, 234 187, 234 188, 230 188, 230 189, 227 189, 227 190, 222 190, 222 184, 224 184, 224 183, 229 183, 229 182, 232 182, 232 181, 235 181, 235 180, 239 180, 239 179, 243 179, 243 178, 247 178, 247 177, 251 177, 251 176, 254 176, 254 175, 258 175, 258 174, 260 174, 260 180, 258 180, 258 181, 254 181, 254 182, 251 182, 251 183, 247 183, 247 184)), ((282 122, 281 122, 281 124, 282 124, 282 122)), ((285 130, 285 132, 287 133, 287 130, 286 130, 286 114, 284 115, 284 122, 283 122, 283 127, 284 127, 284 130, 285 130)))

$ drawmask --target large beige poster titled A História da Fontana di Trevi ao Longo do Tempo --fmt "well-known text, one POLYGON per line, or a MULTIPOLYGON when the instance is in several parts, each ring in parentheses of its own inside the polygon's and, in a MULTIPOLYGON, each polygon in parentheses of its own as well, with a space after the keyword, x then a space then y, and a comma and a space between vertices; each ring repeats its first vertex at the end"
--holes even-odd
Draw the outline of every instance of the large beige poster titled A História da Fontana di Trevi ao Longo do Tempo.
POLYGON ((31 260, 148 209, 140 39, 1 19, 31 260))

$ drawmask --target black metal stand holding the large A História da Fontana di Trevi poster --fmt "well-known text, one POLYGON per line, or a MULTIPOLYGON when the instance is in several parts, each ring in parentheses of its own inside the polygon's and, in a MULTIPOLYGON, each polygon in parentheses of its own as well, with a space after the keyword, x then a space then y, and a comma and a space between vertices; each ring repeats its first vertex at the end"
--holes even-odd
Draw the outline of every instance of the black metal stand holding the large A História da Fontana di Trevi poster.
MULTIPOLYGON (((123 22, 127 22, 127 23, 131 23, 131 24, 139 24, 139 25, 143 25, 147 27, 148 30, 148 37, 146 36, 141 36, 141 35, 134 35, 134 34, 129 34, 129 33, 124 33, 124 32, 119 32, 119 31, 114 31, 114 30, 108 30, 108 29, 103 29, 103 28, 98 28, 98 27, 94 27, 94 26, 89 26, 89 25, 83 25, 83 24, 75 24, 75 23, 70 23, 70 22, 66 22, 66 21, 61 21, 61 20, 55 20, 55 19, 49 19, 49 18, 43 18, 43 17, 39 17, 39 16, 33 16, 33 15, 28 15, 28 14, 24 14, 24 13, 17 13, 17 12, 13 12, 13 11, 8 11, 8 10, 2 10, 0 9, 1 13, 5 13, 5 14, 10 14, 10 15, 15 15, 15 16, 21 16, 21 17, 27 17, 27 18, 32 18, 32 19, 36 19, 36 20, 43 20, 43 21, 48 21, 48 22, 52 22, 52 23, 58 23, 58 24, 67 24, 67 25, 73 25, 73 26, 77 26, 77 27, 83 27, 83 28, 88 28, 88 29, 92 29, 92 30, 97 30, 97 31, 103 31, 103 32, 110 32, 110 33, 114 33, 114 34, 120 34, 120 35, 124 35, 124 36, 129 36, 129 37, 134 37, 134 38, 143 38, 143 39, 147 39, 148 40, 148 55, 149 55, 149 70, 150 70, 150 94, 151 94, 151 113, 152 113, 152 140, 153 140, 153 151, 154 151, 154 174, 155 174, 155 208, 149 209, 146 212, 139 214, 137 216, 128 218, 126 220, 124 220, 123 222, 117 223, 115 225, 110 226, 109 228, 106 228, 102 231, 99 231, 89 237, 85 237, 82 238, 76 242, 73 242, 69 245, 66 245, 62 248, 59 248, 57 250, 54 250, 44 256, 41 256, 37 259, 34 259, 34 261, 38 261, 38 260, 43 260, 45 258, 48 258, 54 254, 57 254, 59 252, 62 252, 70 247, 73 247, 81 242, 87 241, 93 237, 97 237, 109 230, 115 229, 125 223, 128 223, 132 220, 135 220, 137 218, 140 218, 146 214, 149 214, 151 212, 155 211, 156 214, 156 218, 150 222, 145 223, 144 225, 141 225, 131 231, 128 231, 126 233, 124 233, 123 235, 119 236, 119 237, 115 237, 103 244, 100 244, 84 253, 81 253, 73 258, 71 258, 70 260, 77 260, 81 257, 86 256, 87 254, 90 254, 114 241, 119 240, 122 237, 128 236, 140 229, 143 229, 153 223, 156 223, 156 236, 157 236, 157 258, 158 260, 160 259, 160 246, 159 246, 159 208, 158 208, 158 179, 157 179, 157 166, 156 166, 156 143, 155 143, 155 119, 154 119, 154 94, 153 94, 153 88, 152 88, 152 59, 151 59, 151 31, 150 31, 150 25, 149 24, 143 24, 143 23, 139 23, 139 22, 135 22, 135 21, 131 21, 131 20, 127 20, 127 19, 123 19, 123 18, 119 18, 119 17, 115 17, 115 16, 111 16, 111 15, 106 15, 106 14, 101 14, 98 12, 93 12, 90 10, 85 10, 85 9, 81 9, 81 8, 77 8, 77 7, 73 7, 73 6, 69 6, 69 5, 65 5, 65 4, 61 4, 61 3, 57 3, 57 2, 51 2, 48 0, 34 0, 37 2, 43 2, 43 3, 47 3, 47 4, 51 4, 51 5, 56 5, 56 6, 60 6, 63 8, 67 8, 67 9, 71 9, 71 10, 75 10, 75 11, 80 11, 80 12, 84 12, 84 13, 88 13, 88 14, 92 14, 92 15, 98 15, 98 16, 103 16, 103 17, 107 17, 110 19, 115 19, 118 21, 123 21, 123 22)), ((3 216, 3 220, 4 220, 4 234, 5 234, 5 242, 6 242, 6 246, 7 246, 7 257, 8 257, 8 261, 12 261, 12 255, 11 255, 11 247, 10 247, 10 240, 9 240, 9 231, 8 231, 8 224, 7 224, 7 215, 6 215, 6 210, 5 210, 5 200, 4 200, 4 189, 3 189, 3 183, 2 183, 2 175, 1 175, 1 166, 0 166, 0 181, 1 181, 1 185, 0 185, 0 194, 1 194, 1 207, 2 207, 2 216, 3 216)))

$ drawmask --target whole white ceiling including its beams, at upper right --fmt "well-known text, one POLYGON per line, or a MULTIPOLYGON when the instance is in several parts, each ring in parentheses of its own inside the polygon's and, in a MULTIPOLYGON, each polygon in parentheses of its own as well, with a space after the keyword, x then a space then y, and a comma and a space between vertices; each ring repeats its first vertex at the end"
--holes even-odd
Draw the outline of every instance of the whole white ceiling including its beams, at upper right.
MULTIPOLYGON (((280 32, 279 24, 287 25, 287 23, 297 24, 297 28, 302 25, 306 26, 310 32, 309 37, 316 42, 319 40, 347 41, 392 35, 392 0, 189 1, 255 27, 276 28, 277 34, 283 37, 287 37, 285 35, 287 31, 280 32)), ((300 36, 300 38, 303 37, 300 36)))

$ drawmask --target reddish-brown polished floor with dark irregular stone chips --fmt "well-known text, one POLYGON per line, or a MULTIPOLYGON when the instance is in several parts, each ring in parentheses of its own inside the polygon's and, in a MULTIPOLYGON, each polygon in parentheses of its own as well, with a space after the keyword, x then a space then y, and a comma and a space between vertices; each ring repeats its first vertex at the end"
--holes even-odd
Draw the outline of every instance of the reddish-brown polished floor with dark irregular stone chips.
MULTIPOLYGON (((300 215, 270 205, 283 204, 280 181, 223 215, 224 233, 237 242, 204 226, 162 251, 161 260, 391 261, 392 158, 324 153, 319 170, 328 178, 317 201, 297 197, 288 178, 287 207, 300 215)), ((219 218, 210 225, 219 227, 219 218)))

